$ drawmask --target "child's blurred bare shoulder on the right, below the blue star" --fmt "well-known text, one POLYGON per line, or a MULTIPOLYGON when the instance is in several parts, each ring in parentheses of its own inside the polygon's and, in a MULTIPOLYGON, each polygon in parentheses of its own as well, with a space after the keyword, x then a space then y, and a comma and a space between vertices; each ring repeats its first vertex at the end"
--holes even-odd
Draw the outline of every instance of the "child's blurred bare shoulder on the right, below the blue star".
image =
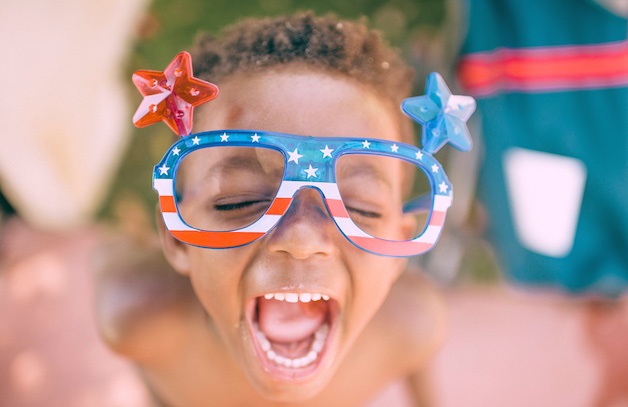
POLYGON ((408 268, 396 281, 373 320, 373 329, 386 333, 391 357, 402 359, 410 371, 421 369, 442 346, 447 309, 440 289, 417 268, 408 268))

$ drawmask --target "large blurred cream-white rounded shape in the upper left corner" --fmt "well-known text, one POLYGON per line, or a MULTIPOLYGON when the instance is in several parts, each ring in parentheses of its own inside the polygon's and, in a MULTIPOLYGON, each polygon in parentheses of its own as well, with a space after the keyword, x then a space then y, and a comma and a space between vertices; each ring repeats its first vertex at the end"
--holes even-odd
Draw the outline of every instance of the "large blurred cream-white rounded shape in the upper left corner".
POLYGON ((0 2, 0 188, 32 225, 81 225, 106 195, 131 127, 123 62, 146 5, 0 2))

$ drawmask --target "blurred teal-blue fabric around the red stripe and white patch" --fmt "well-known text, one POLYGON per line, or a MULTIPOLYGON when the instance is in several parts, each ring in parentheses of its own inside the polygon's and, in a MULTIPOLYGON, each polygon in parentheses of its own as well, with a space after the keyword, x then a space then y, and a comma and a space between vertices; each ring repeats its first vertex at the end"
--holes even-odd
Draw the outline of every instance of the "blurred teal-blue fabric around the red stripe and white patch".
MULTIPOLYGON (((461 57, 502 47, 603 45, 626 40, 628 26, 586 0, 470 0, 461 57)), ((626 67, 628 70, 628 67, 626 67)), ((478 194, 489 238, 515 283, 616 296, 628 286, 628 87, 501 90, 475 96, 485 159, 478 194), (571 252, 561 258, 518 241, 503 155, 518 146, 582 160, 588 174, 571 252)))

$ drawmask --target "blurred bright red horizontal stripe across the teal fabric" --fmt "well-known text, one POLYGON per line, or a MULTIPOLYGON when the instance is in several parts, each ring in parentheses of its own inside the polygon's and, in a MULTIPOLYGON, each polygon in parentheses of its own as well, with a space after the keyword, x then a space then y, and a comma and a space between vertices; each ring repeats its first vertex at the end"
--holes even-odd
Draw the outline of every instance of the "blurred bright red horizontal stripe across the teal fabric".
POLYGON ((628 84, 628 43, 473 53, 461 58, 458 77, 474 96, 621 86, 628 84))

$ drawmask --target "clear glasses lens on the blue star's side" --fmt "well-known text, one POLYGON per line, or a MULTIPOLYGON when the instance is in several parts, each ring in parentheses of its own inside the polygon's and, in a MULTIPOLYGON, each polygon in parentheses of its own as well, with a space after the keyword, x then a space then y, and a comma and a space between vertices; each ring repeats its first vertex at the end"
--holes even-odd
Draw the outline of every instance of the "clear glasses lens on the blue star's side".
POLYGON ((431 183, 420 167, 395 157, 346 154, 336 163, 336 179, 349 217, 363 232, 406 241, 427 226, 431 183))

